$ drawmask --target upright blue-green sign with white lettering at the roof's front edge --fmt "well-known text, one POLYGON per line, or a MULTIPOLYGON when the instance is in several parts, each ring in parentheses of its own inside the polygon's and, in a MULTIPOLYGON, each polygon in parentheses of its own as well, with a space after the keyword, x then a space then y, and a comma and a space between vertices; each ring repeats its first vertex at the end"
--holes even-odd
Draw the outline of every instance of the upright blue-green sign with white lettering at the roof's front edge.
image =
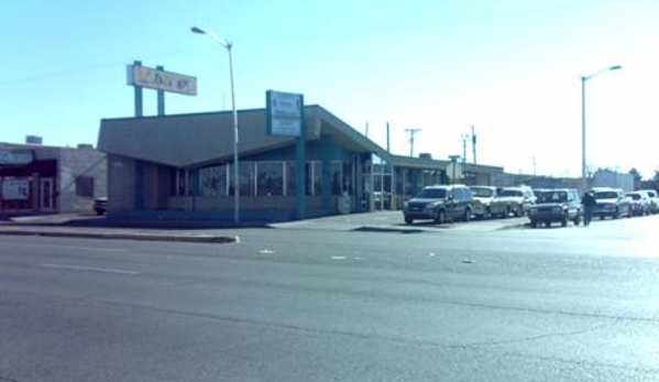
POLYGON ((303 131, 303 95, 273 91, 266 92, 267 133, 271 135, 300 137, 303 131))

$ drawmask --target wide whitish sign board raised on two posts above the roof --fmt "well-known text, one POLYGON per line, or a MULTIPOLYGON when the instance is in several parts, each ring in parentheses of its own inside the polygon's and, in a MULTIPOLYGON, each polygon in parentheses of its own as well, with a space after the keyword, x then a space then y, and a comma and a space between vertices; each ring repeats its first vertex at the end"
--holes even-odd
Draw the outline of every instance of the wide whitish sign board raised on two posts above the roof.
POLYGON ((157 70, 142 65, 128 66, 128 84, 144 88, 178 92, 186 96, 197 95, 197 78, 174 72, 157 70))

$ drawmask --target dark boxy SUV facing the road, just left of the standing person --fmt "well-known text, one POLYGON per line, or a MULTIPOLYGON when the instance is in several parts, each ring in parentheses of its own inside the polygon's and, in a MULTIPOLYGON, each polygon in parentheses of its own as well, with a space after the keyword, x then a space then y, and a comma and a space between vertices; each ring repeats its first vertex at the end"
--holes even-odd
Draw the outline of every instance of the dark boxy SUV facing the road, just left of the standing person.
POLYGON ((562 227, 567 227, 568 221, 579 226, 582 217, 579 193, 574 188, 542 190, 537 196, 535 206, 529 208, 528 217, 532 228, 538 223, 549 227, 554 221, 562 227))

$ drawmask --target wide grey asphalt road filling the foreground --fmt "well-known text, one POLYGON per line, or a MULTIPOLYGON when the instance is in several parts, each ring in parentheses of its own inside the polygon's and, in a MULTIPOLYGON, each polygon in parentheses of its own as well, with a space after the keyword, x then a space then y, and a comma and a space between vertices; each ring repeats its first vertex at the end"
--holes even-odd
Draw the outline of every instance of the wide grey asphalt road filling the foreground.
POLYGON ((0 382, 657 381, 659 216, 0 237, 0 382))

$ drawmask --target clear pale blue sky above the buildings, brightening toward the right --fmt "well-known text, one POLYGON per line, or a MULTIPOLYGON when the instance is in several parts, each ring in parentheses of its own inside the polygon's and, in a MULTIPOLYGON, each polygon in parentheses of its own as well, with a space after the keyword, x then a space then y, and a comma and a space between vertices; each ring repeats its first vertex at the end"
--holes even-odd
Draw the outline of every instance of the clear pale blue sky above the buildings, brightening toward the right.
MULTIPOLYGON (((199 95, 167 95, 167 112, 229 109, 234 42, 239 109, 265 90, 301 92, 392 151, 461 154, 474 124, 477 160, 508 172, 581 174, 581 81, 589 165, 645 176, 659 168, 659 1, 30 1, 0 13, 0 141, 96 143, 101 118, 133 114, 125 65, 198 77, 199 95), (535 162, 535 167, 534 167, 535 162)), ((145 113, 155 94, 145 92, 145 113)), ((468 159, 471 161, 471 148, 468 159)))

